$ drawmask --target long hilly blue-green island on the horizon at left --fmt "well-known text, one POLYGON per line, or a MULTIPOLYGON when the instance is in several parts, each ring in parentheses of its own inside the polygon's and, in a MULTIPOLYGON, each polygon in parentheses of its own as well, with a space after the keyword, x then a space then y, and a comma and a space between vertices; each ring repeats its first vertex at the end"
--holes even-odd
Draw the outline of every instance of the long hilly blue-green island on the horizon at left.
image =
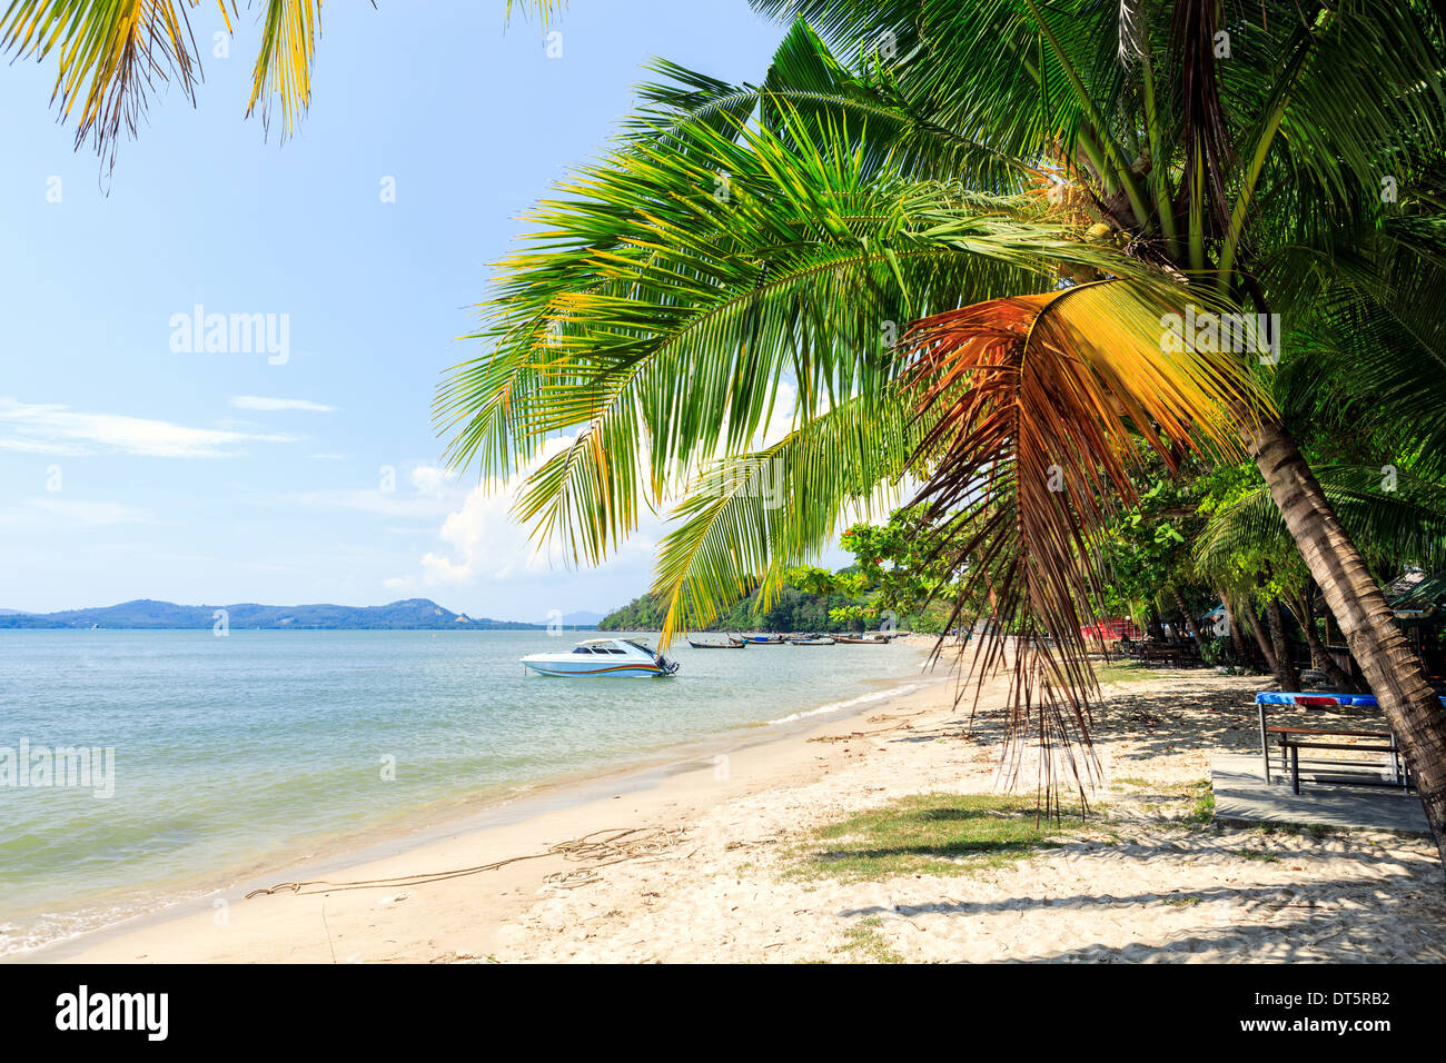
MULTIPOLYGON (((191 629, 214 628, 226 610, 226 622, 237 629, 266 631, 544 631, 548 620, 493 620, 442 609, 427 597, 409 597, 385 606, 263 606, 250 602, 218 606, 178 606, 174 602, 137 599, 100 609, 68 609, 58 613, 22 613, 0 609, 4 628, 107 628, 191 629)), ((552 619, 564 628, 597 628, 596 613, 568 613, 552 619)))

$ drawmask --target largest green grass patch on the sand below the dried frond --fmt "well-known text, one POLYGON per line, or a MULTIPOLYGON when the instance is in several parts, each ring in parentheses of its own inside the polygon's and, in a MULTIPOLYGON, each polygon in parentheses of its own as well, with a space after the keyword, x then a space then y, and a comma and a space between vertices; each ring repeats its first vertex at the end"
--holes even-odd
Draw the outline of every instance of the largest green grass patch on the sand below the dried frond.
POLYGON ((1002 868, 1089 832, 1077 808, 1037 819, 1034 798, 915 794, 850 816, 805 843, 794 875, 846 882, 1002 868))

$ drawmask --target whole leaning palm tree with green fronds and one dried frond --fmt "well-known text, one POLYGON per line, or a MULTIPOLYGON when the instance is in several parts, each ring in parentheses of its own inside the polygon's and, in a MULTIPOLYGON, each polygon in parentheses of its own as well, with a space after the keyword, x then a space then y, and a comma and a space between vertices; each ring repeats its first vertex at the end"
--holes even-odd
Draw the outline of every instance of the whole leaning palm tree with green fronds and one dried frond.
POLYGON ((1437 16, 755 6, 800 16, 762 84, 659 64, 616 150, 539 207, 483 308, 489 350, 440 393, 451 460, 496 479, 571 434, 518 513, 584 561, 691 484, 655 587, 669 631, 927 474, 923 512, 960 567, 993 574, 1005 626, 1057 638, 1024 641, 1019 688, 1077 732, 1092 678, 1076 632, 1103 579, 1090 542, 1112 496, 1131 498, 1126 437, 1171 464, 1245 448, 1446 824, 1440 706, 1251 377, 1278 321, 1287 338, 1372 321, 1384 350, 1440 360, 1436 307, 1413 328, 1400 317, 1401 292, 1446 262, 1437 16), (1192 336, 1161 351, 1171 302, 1268 317, 1235 349, 1192 336), (910 320, 899 350, 879 341, 910 320), (758 448, 785 380, 791 430, 758 448), (720 458, 774 461, 791 505, 769 512, 746 477, 719 490, 720 458))

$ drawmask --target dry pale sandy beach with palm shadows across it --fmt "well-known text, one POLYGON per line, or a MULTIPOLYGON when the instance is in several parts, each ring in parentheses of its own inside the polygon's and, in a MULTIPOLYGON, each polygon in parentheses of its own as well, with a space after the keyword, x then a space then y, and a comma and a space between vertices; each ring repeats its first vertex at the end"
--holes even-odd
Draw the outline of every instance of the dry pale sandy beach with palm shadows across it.
POLYGON ((1106 678, 1092 816, 1006 859, 830 869, 821 839, 850 817, 1001 793, 1002 683, 986 686, 970 725, 969 704, 956 709, 953 684, 937 681, 665 772, 560 790, 515 821, 268 882, 325 879, 296 891, 246 900, 247 884, 30 959, 1446 959, 1429 839, 1222 826, 1202 813, 1210 754, 1255 748, 1258 678, 1106 678))

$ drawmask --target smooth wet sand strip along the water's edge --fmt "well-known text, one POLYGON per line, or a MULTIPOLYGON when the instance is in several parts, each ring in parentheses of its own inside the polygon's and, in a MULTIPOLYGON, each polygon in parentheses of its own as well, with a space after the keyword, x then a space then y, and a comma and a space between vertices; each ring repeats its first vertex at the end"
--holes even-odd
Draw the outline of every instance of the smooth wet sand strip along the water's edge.
MULTIPOLYGON (((625 764, 578 768, 525 785, 508 787, 506 794, 479 791, 467 797, 448 798, 437 806, 422 806, 405 813, 403 821, 383 823, 364 832, 327 839, 314 848, 315 852, 301 858, 278 855, 276 861, 266 862, 262 856, 249 861, 243 872, 213 875, 158 891, 155 907, 146 911, 40 946, 6 953, 0 956, 0 963, 108 962, 95 959, 93 952, 106 953, 107 946, 119 939, 130 934, 149 936, 159 933, 162 927, 188 920, 204 918, 211 924, 213 920, 221 918, 217 913, 226 913, 228 918, 231 905, 257 888, 318 875, 350 878, 353 871, 372 865, 425 859, 434 855, 434 850, 445 850, 460 839, 480 842, 480 836, 489 832, 516 830, 531 836, 528 824, 538 820, 565 819, 571 810, 584 806, 664 788, 678 777, 713 774, 719 756, 732 761, 755 749, 791 740, 801 742, 820 727, 855 719, 917 694, 921 688, 946 683, 947 673, 927 670, 924 651, 933 642, 933 636, 911 636, 905 645, 918 654, 918 670, 910 675, 857 680, 852 684, 857 691, 853 696, 821 697, 816 707, 801 709, 777 720, 727 727, 706 739, 667 743, 629 758, 625 764), (467 804, 473 807, 458 807, 467 804), (440 817, 428 819, 440 806, 450 807, 445 807, 440 817), (226 879, 224 884, 220 882, 221 878, 226 879), (168 894, 175 900, 163 900, 168 894)), ((442 852, 435 855, 441 856, 442 852)))

